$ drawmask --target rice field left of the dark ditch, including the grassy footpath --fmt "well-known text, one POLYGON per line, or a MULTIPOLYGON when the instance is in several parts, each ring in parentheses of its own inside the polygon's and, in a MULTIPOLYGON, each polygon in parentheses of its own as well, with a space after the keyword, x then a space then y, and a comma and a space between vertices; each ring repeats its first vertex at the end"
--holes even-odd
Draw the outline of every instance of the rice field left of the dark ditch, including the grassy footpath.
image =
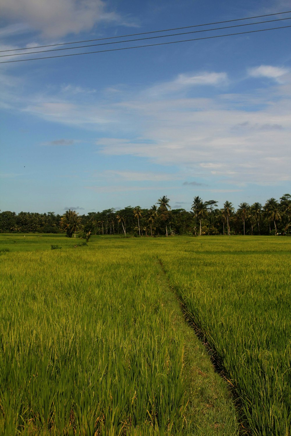
POLYGON ((0 237, 0 434, 237 434, 157 263, 164 240, 79 242, 0 237))

